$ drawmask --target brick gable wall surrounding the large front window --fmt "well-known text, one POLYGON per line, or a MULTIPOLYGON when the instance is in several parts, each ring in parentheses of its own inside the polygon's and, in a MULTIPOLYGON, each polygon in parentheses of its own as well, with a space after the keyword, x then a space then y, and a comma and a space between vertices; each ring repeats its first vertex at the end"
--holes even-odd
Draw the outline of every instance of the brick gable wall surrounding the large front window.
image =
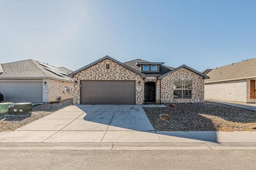
POLYGON ((164 76, 161 80, 161 103, 170 102, 204 102, 204 78, 184 67, 164 76), (184 80, 192 80, 191 99, 173 98, 174 80, 182 80, 182 77, 184 80))

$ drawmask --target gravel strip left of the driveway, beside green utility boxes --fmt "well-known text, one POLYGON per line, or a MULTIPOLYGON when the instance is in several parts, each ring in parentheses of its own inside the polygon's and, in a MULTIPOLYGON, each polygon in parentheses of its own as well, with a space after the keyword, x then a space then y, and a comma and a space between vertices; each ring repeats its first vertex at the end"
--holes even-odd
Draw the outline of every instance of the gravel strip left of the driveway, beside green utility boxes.
POLYGON ((0 132, 14 131, 19 127, 22 127, 28 123, 36 121, 42 117, 45 117, 69 105, 72 105, 72 99, 63 100, 63 101, 60 101, 60 103, 42 104, 39 106, 34 106, 32 107, 31 114, 0 116, 0 132))

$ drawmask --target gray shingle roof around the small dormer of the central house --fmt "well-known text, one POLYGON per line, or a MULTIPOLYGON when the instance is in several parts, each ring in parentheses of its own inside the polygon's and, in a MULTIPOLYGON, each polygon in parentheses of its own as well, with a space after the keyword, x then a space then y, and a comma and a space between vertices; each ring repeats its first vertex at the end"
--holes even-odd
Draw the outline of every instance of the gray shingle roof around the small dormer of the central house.
MULTIPOLYGON (((149 61, 141 60, 141 59, 136 59, 132 61, 125 62, 124 64, 134 68, 135 70, 140 71, 140 66, 137 65, 137 63, 151 63, 149 61)), ((145 73, 146 75, 162 75, 165 74, 166 72, 169 72, 173 70, 173 67, 165 66, 165 65, 160 65, 159 66, 159 72, 147 72, 145 73)))

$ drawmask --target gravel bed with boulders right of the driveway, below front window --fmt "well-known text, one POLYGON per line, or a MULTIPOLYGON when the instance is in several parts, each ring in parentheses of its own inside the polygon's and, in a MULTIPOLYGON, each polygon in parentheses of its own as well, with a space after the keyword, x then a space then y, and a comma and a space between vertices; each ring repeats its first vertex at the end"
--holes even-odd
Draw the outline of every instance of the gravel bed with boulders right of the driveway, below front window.
POLYGON ((156 131, 256 131, 256 111, 211 102, 165 105, 144 107, 156 131), (170 120, 160 120, 162 113, 170 120))

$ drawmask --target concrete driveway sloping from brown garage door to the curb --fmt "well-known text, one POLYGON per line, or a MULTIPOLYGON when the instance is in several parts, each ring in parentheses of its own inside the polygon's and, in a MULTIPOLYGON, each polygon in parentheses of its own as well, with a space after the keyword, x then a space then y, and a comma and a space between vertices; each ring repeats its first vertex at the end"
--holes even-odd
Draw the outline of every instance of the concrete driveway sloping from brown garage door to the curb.
POLYGON ((9 133, 0 142, 160 142, 142 106, 75 105, 9 133))

